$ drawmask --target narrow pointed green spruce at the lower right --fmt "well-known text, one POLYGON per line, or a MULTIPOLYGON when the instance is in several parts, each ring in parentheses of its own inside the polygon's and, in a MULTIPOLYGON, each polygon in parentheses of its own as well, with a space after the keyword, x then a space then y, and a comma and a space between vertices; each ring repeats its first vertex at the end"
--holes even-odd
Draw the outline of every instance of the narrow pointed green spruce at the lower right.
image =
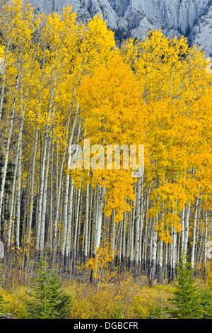
POLYGON ((201 291, 195 284, 196 278, 192 278, 194 270, 191 269, 187 256, 182 256, 176 280, 176 289, 172 299, 173 308, 167 311, 171 318, 175 319, 197 319, 203 315, 201 306, 201 291))

